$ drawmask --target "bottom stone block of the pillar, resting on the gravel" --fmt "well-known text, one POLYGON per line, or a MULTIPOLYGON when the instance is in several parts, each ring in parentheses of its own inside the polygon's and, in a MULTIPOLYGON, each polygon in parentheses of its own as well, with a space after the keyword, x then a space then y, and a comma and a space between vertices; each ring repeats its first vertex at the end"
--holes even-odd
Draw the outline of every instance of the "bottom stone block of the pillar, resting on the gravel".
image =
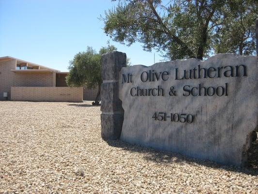
POLYGON ((104 140, 117 140, 120 137, 123 114, 101 114, 101 137, 104 140))

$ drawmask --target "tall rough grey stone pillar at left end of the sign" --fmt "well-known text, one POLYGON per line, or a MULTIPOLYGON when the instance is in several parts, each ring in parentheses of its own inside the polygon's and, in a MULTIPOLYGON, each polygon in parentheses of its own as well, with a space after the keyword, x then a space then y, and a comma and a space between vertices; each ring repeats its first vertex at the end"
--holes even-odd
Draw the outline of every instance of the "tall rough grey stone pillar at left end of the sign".
POLYGON ((113 51, 101 58, 101 137, 117 140, 123 124, 122 102, 119 94, 119 72, 126 65, 126 54, 113 51))

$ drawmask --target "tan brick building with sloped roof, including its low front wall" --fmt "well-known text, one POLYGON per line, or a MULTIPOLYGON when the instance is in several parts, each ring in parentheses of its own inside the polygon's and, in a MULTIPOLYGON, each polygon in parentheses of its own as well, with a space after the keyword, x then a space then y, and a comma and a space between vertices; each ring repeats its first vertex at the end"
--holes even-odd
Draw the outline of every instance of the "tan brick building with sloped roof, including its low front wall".
POLYGON ((97 89, 67 87, 68 73, 9 56, 0 57, 0 100, 94 100, 97 89))

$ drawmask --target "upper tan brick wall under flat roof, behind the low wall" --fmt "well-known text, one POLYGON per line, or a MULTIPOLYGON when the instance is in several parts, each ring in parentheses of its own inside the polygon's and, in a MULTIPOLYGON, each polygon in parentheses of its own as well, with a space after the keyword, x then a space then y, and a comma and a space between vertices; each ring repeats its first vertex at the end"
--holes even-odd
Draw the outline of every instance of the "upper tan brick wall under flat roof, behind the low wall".
POLYGON ((52 87, 52 72, 16 72, 14 86, 52 87))

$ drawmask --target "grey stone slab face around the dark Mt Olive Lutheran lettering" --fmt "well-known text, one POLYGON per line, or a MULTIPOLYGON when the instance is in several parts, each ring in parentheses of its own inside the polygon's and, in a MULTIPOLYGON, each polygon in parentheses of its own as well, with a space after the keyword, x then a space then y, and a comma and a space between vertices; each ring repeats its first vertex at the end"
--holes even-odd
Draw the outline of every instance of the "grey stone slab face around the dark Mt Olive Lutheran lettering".
MULTIPOLYGON (((229 67, 228 67, 229 68, 229 67)), ((227 69, 228 69, 227 68, 227 69)), ((236 69, 234 69, 234 75, 236 69)), ((201 77, 203 72, 201 71, 201 77)), ((224 72, 224 70, 222 71, 224 72)), ((213 72, 214 73, 214 72, 213 72)), ((240 71, 243 74, 243 71, 240 71)), ((214 74, 210 74, 212 77, 214 74)), ((226 74, 229 75, 229 72, 226 74)), ((244 165, 254 130, 258 130, 258 58, 218 54, 206 61, 197 59, 164 62, 152 66, 123 67, 119 78, 119 97, 124 110, 121 140, 141 146, 173 151, 223 164, 244 165), (247 76, 175 80, 178 68, 218 68, 246 65, 247 76), (169 72, 167 81, 140 81, 143 71, 169 72), (132 74, 132 83, 122 83, 122 74, 132 74), (183 86, 226 87, 228 96, 182 96, 183 86), (132 87, 164 89, 164 96, 132 97, 132 87), (176 96, 169 96, 174 86, 176 96), (193 123, 158 121, 154 113, 193 114, 193 123)), ((221 88, 220 88, 221 89, 221 88)), ((196 89, 195 89, 196 91, 196 89)), ((221 89, 222 92, 222 89, 221 89)), ((155 95, 155 93, 153 93, 155 95)), ((188 93, 187 93, 188 94, 188 93)), ((193 93, 196 95, 196 92, 193 93)), ((133 94, 135 95, 135 93, 133 94)), ((203 92, 204 95, 204 92, 203 92)), ((220 94, 219 94, 220 95, 220 94)), ((183 119, 182 119, 183 121, 183 119)))

